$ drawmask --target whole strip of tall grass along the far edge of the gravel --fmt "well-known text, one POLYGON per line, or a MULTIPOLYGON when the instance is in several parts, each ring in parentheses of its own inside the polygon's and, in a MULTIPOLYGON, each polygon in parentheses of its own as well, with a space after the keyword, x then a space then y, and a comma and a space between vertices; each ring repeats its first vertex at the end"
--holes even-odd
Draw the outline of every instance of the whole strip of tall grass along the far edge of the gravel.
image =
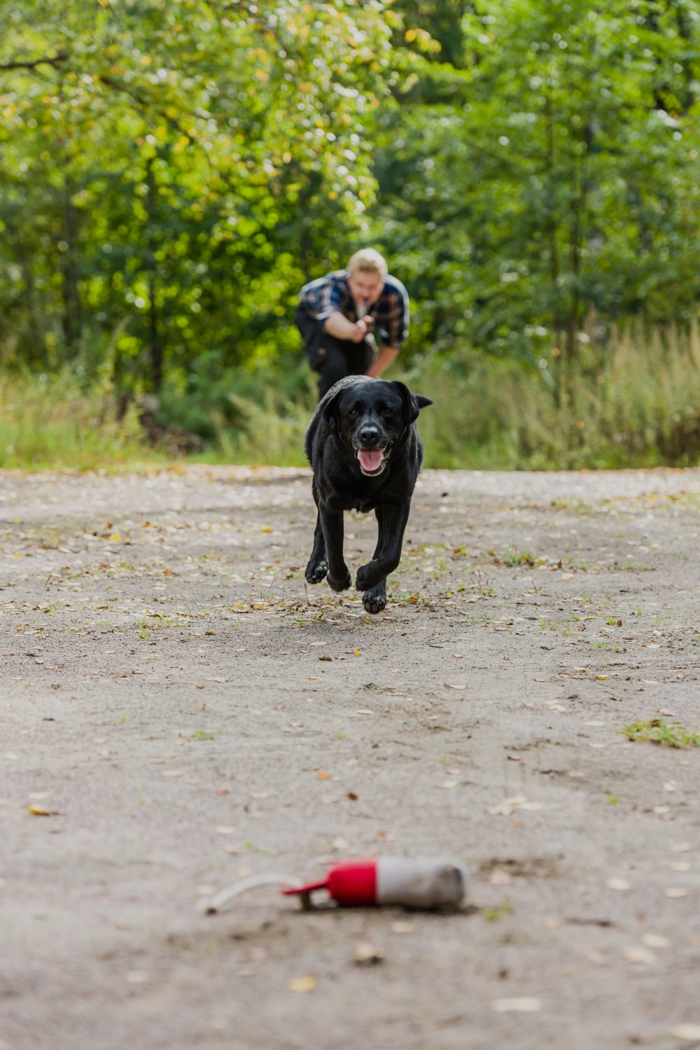
MULTIPOLYGON (((557 406, 547 370, 490 358, 416 365, 404 375, 431 397, 421 413, 426 466, 578 469, 700 462, 700 335, 627 330, 589 351, 557 406)), ((302 465, 314 407, 312 377, 219 375, 216 396, 164 398, 165 422, 208 442, 196 461, 302 465), (294 391, 296 390, 296 393, 294 391), (205 418, 206 417, 206 418, 205 418)), ((111 391, 81 391, 70 376, 0 377, 0 466, 120 468, 174 458, 145 443, 132 406, 121 423, 111 391)))

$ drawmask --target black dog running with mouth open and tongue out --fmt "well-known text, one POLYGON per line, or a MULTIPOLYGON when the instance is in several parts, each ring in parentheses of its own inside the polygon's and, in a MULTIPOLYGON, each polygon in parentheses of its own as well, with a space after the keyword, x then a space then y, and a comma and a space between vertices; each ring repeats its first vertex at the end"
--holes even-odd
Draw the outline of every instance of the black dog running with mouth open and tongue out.
POLYGON ((374 556, 357 572, 367 612, 386 605, 386 578, 401 559, 410 498, 423 462, 416 420, 432 404, 404 383, 347 376, 319 402, 306 430, 305 449, 314 470, 318 518, 306 580, 327 576, 335 591, 347 590, 343 556, 343 511, 374 510, 379 539, 374 556))

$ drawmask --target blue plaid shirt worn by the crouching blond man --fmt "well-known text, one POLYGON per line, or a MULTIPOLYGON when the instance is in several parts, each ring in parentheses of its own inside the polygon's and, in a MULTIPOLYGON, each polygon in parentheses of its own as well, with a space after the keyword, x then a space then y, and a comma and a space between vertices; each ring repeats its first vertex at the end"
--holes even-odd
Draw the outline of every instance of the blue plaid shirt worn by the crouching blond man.
MULTIPOLYGON (((347 278, 347 270, 335 270, 325 277, 318 277, 301 289, 301 306, 319 321, 331 314, 341 313, 348 321, 356 321, 357 309, 347 278)), ((367 313, 375 318, 375 332, 382 342, 398 350, 408 335, 408 294, 400 280, 386 276, 384 287, 367 313)))

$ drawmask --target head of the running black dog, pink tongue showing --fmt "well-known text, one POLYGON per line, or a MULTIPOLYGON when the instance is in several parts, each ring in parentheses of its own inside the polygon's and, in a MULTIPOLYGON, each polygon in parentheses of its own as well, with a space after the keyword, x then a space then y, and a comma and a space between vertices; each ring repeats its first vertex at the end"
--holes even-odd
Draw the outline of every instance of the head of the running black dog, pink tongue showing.
POLYGON ((348 376, 328 392, 322 420, 369 478, 382 474, 391 453, 430 398, 413 394, 405 383, 348 376))

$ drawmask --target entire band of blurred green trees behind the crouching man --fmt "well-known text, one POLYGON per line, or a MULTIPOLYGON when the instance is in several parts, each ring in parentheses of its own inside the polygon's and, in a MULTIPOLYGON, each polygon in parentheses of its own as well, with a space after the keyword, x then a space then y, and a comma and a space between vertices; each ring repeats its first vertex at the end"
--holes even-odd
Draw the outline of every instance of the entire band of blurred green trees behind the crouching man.
POLYGON ((700 0, 2 0, 3 373, 215 441, 306 395, 298 290, 373 244, 415 372, 604 397, 617 330, 697 319, 699 41, 700 0))

